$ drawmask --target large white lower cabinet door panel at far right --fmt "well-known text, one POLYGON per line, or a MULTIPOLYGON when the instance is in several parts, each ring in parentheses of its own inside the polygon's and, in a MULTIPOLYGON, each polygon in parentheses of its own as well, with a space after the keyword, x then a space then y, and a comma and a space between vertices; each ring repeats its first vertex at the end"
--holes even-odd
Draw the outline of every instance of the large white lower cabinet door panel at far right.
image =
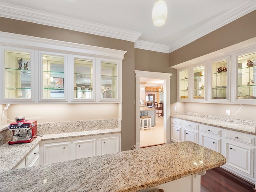
POLYGON ((252 174, 252 148, 237 146, 226 142, 226 164, 245 172, 252 174))

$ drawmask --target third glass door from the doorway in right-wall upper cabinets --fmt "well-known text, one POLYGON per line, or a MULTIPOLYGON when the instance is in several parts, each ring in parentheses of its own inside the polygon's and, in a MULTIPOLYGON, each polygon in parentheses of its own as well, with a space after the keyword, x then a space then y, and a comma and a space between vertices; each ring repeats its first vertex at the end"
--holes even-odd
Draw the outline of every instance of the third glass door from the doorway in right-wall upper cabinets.
POLYGON ((212 99, 227 98, 227 60, 212 63, 212 99))

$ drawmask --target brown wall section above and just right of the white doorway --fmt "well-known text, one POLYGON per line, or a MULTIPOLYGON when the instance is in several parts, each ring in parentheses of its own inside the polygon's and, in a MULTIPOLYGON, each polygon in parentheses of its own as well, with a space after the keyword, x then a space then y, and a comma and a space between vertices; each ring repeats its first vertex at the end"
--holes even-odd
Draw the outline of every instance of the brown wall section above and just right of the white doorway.
POLYGON ((135 70, 172 73, 170 103, 177 102, 177 70, 169 67, 169 54, 136 48, 135 70))

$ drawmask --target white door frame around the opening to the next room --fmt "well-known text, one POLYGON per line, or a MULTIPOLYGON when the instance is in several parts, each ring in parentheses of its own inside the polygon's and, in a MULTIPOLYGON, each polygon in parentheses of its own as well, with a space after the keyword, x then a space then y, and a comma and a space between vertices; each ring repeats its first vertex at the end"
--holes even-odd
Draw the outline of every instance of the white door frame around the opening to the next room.
POLYGON ((135 70, 135 148, 140 148, 140 77, 164 80, 164 143, 170 143, 170 76, 172 73, 160 73, 135 70))

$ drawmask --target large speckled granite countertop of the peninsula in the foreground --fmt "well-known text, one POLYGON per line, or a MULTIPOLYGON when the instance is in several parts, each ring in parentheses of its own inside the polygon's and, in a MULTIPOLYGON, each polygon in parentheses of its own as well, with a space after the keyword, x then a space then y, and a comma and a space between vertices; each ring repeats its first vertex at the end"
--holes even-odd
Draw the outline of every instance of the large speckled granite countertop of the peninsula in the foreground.
POLYGON ((225 162, 222 154, 185 141, 0 172, 0 186, 15 192, 137 192, 225 162))

